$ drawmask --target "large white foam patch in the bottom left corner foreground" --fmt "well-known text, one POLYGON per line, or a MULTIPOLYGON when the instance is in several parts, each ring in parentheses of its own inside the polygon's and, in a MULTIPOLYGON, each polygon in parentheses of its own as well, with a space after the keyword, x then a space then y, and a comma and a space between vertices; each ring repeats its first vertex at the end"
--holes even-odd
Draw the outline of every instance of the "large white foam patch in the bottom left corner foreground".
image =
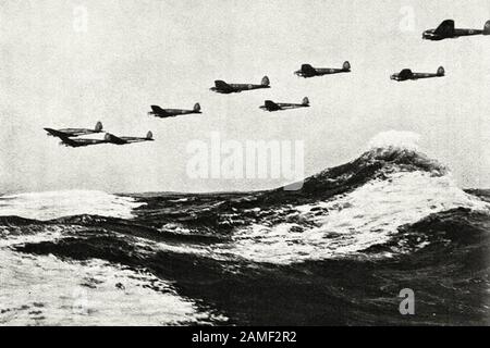
POLYGON ((0 248, 0 325, 175 325, 225 320, 171 284, 101 260, 66 262, 0 248))

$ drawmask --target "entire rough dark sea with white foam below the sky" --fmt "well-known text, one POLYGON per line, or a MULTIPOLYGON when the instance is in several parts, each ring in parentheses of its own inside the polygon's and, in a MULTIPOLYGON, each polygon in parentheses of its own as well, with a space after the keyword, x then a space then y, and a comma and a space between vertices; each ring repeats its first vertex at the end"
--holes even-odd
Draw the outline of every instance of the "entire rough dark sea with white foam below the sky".
POLYGON ((489 201, 379 139, 299 191, 2 196, 0 324, 489 324, 489 201))

